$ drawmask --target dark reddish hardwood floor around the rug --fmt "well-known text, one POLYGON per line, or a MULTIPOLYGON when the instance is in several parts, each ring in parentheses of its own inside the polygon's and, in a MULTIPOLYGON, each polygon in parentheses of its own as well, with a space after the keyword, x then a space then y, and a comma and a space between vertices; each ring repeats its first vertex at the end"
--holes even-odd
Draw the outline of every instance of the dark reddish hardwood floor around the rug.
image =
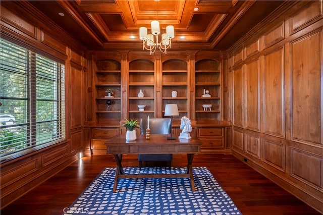
MULTIPOLYGON (((174 155, 172 166, 185 166, 174 155)), ((124 167, 137 167, 136 155, 123 156, 124 167)), ((242 214, 320 214, 232 155, 198 154, 193 166, 213 174, 242 214)), ((1 211, 6 214, 62 214, 104 167, 116 167, 112 155, 85 156, 1 211)))

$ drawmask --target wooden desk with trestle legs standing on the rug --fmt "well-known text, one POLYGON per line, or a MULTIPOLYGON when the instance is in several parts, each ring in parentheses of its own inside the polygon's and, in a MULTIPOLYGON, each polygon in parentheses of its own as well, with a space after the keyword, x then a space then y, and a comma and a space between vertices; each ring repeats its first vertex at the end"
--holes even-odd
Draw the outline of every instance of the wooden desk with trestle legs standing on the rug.
POLYGON ((192 162, 195 153, 200 153, 201 144, 197 138, 168 140, 168 135, 152 134, 150 139, 146 135, 137 135, 137 140, 126 141, 126 135, 117 135, 107 140, 106 153, 113 154, 117 171, 113 187, 116 192, 118 180, 121 178, 190 178, 192 191, 195 191, 192 162), (187 154, 187 169, 185 174, 124 174, 122 167, 122 154, 187 154))

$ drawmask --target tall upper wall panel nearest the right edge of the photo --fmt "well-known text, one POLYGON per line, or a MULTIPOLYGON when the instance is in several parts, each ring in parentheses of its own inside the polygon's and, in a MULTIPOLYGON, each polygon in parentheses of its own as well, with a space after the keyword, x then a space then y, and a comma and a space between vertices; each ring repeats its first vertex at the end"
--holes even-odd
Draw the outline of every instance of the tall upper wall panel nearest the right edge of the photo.
POLYGON ((321 45, 321 32, 291 43, 291 139, 295 141, 322 144, 321 45))

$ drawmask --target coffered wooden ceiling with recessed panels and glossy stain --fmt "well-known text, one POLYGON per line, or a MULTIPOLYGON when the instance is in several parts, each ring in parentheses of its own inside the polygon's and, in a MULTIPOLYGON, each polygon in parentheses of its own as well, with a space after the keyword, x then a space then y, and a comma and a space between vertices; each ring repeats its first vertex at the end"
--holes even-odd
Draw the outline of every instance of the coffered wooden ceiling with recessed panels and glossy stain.
POLYGON ((284 1, 29 1, 88 49, 141 49, 139 27, 175 27, 173 49, 226 50, 284 1), (198 8, 198 11, 194 11, 198 8), (63 13, 64 16, 60 16, 63 13))

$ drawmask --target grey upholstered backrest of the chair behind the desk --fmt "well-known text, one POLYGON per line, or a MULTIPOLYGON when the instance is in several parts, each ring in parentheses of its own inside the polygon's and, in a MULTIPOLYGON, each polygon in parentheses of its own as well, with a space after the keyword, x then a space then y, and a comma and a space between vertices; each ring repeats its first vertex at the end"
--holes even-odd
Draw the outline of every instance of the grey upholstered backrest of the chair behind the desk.
MULTIPOLYGON (((147 120, 141 120, 141 134, 146 133, 147 120)), ((150 134, 170 134, 171 118, 150 118, 150 134)))

